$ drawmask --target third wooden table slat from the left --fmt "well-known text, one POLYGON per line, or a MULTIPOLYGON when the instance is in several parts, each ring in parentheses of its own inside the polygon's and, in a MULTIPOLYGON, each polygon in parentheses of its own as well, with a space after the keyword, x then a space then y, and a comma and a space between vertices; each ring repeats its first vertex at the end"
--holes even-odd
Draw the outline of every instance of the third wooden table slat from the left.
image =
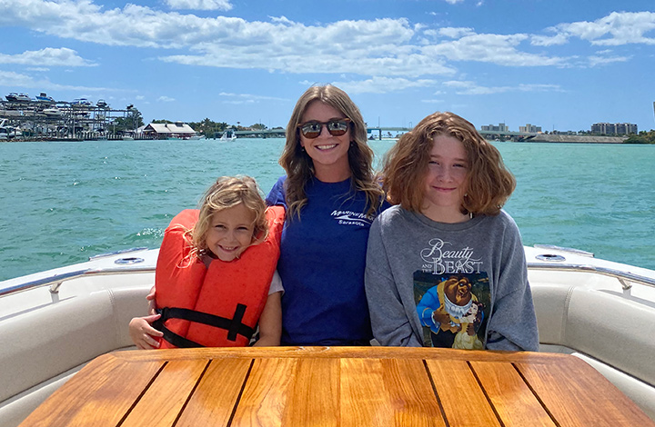
POLYGON ((176 427, 227 426, 251 362, 250 359, 211 361, 176 427))

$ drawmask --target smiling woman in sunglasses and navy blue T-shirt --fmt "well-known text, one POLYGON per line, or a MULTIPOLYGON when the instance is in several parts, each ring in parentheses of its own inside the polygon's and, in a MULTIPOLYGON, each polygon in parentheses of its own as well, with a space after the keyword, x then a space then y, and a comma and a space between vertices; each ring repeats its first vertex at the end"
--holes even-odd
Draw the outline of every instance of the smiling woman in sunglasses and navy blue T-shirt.
MULTIPOLYGON (((333 85, 300 96, 279 163, 287 172, 267 196, 287 208, 277 271, 283 345, 368 345, 364 292, 368 230, 382 209, 366 124, 333 85)), ((384 207, 387 207, 385 204, 384 207)))

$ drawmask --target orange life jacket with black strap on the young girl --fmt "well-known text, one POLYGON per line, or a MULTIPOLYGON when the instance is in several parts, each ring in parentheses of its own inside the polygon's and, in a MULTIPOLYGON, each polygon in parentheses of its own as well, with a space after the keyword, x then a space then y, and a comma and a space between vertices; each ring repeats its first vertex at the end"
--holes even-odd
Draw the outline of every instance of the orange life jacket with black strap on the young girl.
POLYGON ((267 302, 279 258, 284 208, 267 209, 268 236, 231 262, 218 259, 209 268, 187 256, 184 233, 199 212, 187 209, 171 221, 156 263, 156 305, 162 317, 154 326, 164 333, 159 348, 246 346, 267 302))

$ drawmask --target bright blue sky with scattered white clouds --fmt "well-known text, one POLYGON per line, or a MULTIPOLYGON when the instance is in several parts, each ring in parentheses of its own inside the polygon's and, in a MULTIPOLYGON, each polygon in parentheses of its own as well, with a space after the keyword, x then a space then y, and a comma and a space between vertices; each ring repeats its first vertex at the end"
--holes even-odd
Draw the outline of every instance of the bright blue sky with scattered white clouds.
POLYGON ((655 128, 652 0, 0 0, 0 94, 284 126, 311 84, 369 125, 655 128))

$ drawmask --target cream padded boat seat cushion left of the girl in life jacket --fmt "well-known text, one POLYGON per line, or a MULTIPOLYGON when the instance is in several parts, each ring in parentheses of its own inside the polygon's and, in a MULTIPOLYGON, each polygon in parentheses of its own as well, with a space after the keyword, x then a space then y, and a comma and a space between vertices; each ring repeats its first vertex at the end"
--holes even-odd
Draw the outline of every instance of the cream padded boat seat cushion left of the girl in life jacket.
POLYGON ((71 297, 3 320, 0 402, 96 356, 131 345, 128 323, 146 314, 147 288, 71 297))

